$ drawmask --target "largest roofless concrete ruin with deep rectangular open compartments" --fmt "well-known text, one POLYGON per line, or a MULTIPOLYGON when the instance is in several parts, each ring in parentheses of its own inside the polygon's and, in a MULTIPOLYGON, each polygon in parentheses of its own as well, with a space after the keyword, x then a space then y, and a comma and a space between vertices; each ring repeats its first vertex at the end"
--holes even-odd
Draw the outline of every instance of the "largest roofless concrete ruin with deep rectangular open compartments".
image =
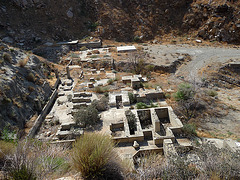
POLYGON ((175 153, 176 134, 181 133, 181 121, 173 113, 171 107, 159 107, 141 110, 131 110, 136 117, 136 128, 131 132, 127 117, 122 121, 110 124, 112 138, 119 144, 139 143, 138 152, 164 150, 175 153))

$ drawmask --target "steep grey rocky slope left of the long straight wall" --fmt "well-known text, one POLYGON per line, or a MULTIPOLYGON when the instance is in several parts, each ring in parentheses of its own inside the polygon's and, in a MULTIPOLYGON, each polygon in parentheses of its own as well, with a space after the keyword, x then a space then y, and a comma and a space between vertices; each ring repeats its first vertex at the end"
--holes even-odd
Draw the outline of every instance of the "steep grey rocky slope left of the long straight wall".
POLYGON ((0 130, 6 125, 23 128, 47 102, 51 68, 36 56, 0 44, 0 130))

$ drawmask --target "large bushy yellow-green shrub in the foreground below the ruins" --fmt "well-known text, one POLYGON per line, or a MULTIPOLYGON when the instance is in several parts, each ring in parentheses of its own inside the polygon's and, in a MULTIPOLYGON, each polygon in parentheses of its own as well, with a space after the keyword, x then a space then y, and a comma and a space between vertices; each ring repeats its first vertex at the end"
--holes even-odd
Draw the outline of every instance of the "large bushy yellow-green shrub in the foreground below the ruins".
POLYGON ((107 135, 85 133, 73 145, 72 166, 84 178, 100 179, 114 157, 114 143, 107 135))

